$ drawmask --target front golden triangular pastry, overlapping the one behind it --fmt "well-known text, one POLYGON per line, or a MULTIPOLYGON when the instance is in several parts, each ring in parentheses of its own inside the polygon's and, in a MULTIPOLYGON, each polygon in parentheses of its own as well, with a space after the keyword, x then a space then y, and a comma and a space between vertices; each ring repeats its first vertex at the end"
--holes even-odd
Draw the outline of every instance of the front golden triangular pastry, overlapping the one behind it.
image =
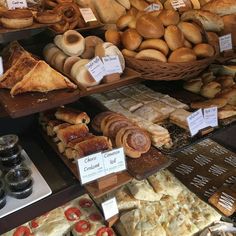
POLYGON ((14 96, 24 92, 48 92, 57 89, 76 89, 77 86, 69 79, 52 69, 46 62, 39 61, 12 89, 14 96))

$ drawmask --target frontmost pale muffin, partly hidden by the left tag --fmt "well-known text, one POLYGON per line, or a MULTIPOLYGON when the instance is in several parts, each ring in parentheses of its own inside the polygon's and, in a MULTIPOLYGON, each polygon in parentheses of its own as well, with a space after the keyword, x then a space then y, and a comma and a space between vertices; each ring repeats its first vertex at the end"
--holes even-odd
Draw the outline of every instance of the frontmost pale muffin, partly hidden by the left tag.
POLYGON ((92 87, 99 82, 97 82, 89 73, 86 64, 89 63, 88 59, 81 59, 77 61, 71 68, 71 77, 77 85, 82 85, 83 87, 92 87))

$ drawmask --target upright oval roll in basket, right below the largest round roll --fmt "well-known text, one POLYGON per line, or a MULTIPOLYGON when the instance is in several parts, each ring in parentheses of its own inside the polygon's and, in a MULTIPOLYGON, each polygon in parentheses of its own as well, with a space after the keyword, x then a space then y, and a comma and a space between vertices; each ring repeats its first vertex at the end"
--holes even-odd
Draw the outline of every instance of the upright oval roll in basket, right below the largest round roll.
POLYGON ((184 35, 182 31, 175 25, 169 25, 165 29, 164 35, 168 47, 174 51, 184 46, 184 35))

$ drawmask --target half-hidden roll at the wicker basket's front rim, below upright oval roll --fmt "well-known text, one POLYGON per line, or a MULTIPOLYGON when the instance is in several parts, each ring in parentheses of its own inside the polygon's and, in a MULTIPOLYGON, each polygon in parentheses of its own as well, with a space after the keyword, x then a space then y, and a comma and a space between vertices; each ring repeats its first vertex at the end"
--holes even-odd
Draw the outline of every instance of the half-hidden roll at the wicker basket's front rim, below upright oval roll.
POLYGON ((196 60, 197 57, 192 49, 182 47, 170 54, 168 62, 190 62, 196 60))

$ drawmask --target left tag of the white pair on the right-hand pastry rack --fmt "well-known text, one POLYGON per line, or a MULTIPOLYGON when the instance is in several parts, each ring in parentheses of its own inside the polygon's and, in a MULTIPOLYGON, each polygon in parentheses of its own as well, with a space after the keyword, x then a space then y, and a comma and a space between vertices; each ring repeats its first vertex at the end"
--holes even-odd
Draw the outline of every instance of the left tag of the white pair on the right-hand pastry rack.
POLYGON ((202 114, 202 109, 199 109, 188 116, 187 122, 191 136, 194 136, 199 130, 205 128, 206 123, 202 114))

